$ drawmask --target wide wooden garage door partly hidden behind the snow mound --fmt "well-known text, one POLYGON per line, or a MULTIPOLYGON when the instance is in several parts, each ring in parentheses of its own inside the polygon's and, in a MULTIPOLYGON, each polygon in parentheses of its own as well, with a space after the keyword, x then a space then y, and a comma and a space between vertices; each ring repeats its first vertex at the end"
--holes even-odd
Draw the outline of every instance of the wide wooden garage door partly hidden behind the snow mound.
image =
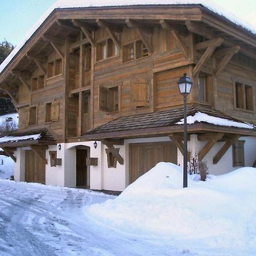
POLYGON ((129 183, 133 183, 159 162, 177 164, 177 147, 173 142, 130 144, 129 183))

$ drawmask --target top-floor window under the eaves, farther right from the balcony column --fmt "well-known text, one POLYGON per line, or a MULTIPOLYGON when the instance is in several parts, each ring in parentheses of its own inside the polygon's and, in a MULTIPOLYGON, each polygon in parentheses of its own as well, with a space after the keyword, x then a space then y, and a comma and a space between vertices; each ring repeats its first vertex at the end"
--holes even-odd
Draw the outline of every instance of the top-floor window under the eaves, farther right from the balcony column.
POLYGON ((142 40, 137 40, 123 46, 123 63, 146 56, 148 56, 148 50, 142 40))

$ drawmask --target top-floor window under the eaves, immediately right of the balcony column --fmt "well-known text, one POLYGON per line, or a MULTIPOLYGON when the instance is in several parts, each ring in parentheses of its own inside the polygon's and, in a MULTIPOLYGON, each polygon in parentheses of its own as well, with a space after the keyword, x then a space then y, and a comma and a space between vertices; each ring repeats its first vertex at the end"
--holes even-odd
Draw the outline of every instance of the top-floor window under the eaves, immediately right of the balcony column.
POLYGON ((103 40, 96 45, 96 60, 104 60, 109 57, 118 55, 118 48, 115 46, 112 39, 103 40))

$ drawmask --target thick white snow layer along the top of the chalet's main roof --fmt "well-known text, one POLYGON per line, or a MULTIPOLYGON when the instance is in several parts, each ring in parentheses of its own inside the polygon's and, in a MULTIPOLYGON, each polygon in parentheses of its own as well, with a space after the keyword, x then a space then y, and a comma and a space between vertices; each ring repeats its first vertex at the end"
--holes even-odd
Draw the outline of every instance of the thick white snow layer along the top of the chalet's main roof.
POLYGON ((86 7, 110 7, 110 6, 132 6, 132 5, 203 5, 213 13, 223 16, 229 19, 234 24, 249 30, 253 34, 256 34, 255 27, 241 22, 235 15, 228 13, 227 10, 222 9, 216 3, 210 0, 59 0, 53 4, 44 15, 38 20, 38 22, 29 30, 24 39, 13 49, 10 55, 0 65, 0 73, 7 67, 13 57, 19 52, 19 50, 26 44, 28 39, 38 30, 44 20, 56 9, 71 9, 71 8, 86 8, 86 7))

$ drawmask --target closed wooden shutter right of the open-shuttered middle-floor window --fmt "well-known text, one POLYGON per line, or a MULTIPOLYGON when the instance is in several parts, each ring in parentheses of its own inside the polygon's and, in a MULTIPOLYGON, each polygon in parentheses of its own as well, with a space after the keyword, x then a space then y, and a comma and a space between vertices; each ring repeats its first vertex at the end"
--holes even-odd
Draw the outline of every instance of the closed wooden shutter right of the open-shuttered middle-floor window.
POLYGON ((134 79, 131 84, 131 103, 137 108, 148 106, 148 79, 134 79))

